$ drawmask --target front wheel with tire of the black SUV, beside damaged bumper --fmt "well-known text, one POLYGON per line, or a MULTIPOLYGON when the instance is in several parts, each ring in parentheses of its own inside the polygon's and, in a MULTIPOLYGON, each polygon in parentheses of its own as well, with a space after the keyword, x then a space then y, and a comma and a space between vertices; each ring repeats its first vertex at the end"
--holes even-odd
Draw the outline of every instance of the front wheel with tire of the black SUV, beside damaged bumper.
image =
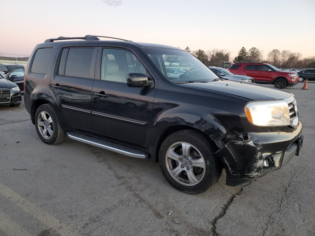
POLYGON ((200 194, 221 177, 222 166, 206 135, 194 130, 170 134, 159 150, 159 162, 166 180, 188 194, 200 194))

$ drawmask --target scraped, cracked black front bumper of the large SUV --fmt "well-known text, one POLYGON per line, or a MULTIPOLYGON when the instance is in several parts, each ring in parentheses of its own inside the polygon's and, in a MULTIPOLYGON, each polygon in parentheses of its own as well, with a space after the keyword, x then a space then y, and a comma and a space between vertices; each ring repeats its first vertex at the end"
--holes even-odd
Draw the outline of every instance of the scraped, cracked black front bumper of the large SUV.
POLYGON ((303 135, 302 123, 298 122, 295 129, 252 132, 243 134, 242 139, 226 140, 224 147, 216 152, 226 169, 226 185, 237 186, 262 177, 299 155, 303 135))

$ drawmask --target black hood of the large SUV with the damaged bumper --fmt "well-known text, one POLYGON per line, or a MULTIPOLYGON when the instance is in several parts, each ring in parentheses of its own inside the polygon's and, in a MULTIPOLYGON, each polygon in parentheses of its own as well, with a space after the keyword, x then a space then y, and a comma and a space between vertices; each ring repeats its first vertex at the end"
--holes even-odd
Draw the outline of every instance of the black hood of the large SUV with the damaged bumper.
POLYGON ((289 98, 292 93, 263 85, 238 81, 212 81, 208 83, 185 83, 183 85, 205 88, 222 93, 248 98, 253 101, 266 101, 289 98))

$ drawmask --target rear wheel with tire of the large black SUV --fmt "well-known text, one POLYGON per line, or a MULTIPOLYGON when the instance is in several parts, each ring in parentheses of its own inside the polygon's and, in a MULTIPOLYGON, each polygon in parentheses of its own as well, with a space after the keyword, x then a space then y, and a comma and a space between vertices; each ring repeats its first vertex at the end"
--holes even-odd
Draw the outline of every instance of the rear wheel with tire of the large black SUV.
POLYGON ((47 144, 61 143, 66 133, 50 104, 40 105, 35 112, 35 127, 39 138, 47 144))

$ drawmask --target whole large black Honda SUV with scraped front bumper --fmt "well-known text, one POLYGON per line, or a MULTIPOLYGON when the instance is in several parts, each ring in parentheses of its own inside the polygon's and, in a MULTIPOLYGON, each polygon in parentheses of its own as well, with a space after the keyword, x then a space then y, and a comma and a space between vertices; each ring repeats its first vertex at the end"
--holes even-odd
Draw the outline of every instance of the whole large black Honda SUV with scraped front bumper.
POLYGON ((24 99, 43 142, 67 136, 151 158, 172 186, 191 194, 214 185, 223 168, 235 186, 299 155, 292 93, 221 80, 179 48, 99 37, 47 39, 31 53, 24 99), (165 60, 193 70, 170 78, 165 60))

